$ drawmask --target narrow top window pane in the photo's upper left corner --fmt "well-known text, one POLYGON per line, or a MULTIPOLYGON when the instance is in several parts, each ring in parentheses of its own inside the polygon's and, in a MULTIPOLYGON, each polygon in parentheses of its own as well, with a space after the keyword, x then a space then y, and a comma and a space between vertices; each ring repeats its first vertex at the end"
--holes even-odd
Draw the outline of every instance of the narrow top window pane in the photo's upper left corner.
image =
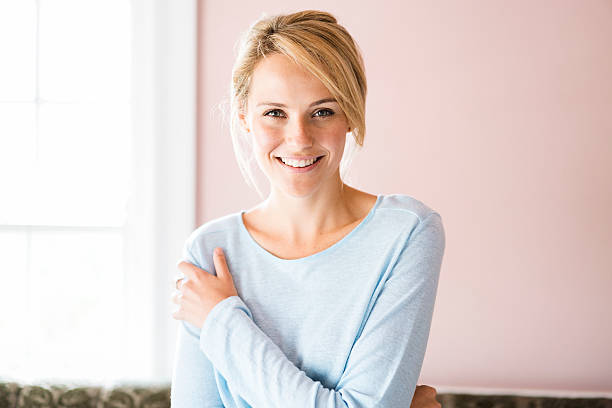
POLYGON ((34 0, 0 1, 0 101, 33 101, 36 86, 34 0))

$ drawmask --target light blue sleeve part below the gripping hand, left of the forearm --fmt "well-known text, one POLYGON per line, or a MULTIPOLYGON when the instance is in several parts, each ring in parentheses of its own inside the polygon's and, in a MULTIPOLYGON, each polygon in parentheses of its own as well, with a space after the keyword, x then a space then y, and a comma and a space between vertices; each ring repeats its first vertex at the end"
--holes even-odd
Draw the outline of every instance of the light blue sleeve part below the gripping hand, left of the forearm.
POLYGON ((223 408, 213 365, 199 348, 197 328, 179 322, 172 372, 172 407, 223 408))

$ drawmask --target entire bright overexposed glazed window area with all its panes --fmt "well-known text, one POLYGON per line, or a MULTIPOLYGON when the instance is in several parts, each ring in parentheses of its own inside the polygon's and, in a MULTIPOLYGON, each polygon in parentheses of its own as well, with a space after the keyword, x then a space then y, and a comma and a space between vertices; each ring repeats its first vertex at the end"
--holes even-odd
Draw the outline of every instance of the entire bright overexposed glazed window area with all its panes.
POLYGON ((0 1, 0 376, 121 375, 130 13, 0 1))

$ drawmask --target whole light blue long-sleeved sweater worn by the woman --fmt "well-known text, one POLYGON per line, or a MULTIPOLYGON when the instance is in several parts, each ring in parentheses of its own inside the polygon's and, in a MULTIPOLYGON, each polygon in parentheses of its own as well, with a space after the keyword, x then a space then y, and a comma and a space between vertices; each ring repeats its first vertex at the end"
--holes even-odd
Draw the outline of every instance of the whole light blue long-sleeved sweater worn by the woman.
POLYGON ((223 248, 238 296, 201 330, 181 322, 172 406, 408 408, 444 254, 440 215, 379 195, 340 241, 288 260, 257 244, 243 212, 186 241, 183 258, 212 274, 223 248))

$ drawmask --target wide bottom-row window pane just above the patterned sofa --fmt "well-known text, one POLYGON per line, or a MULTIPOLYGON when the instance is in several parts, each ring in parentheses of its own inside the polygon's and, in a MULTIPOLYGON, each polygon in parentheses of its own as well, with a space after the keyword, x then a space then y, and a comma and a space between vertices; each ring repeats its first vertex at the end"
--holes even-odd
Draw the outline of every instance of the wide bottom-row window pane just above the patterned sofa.
POLYGON ((117 378, 121 371, 120 232, 32 233, 29 376, 117 378), (119 370, 119 371, 118 371, 119 370))

